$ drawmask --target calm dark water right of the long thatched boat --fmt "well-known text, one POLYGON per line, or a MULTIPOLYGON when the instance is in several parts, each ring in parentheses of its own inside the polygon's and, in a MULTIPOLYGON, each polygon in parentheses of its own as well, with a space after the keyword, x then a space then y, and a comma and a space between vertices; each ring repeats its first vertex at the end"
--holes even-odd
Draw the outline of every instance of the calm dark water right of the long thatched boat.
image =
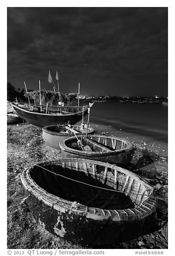
POLYGON ((90 122, 167 142, 168 108, 161 103, 120 103, 115 100, 94 103, 90 122))

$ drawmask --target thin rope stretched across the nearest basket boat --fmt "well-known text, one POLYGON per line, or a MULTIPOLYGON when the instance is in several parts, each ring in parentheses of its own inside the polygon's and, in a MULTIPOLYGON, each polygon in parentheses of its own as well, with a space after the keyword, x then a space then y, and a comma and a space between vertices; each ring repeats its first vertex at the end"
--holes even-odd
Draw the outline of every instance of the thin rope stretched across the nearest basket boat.
MULTIPOLYGON (((86 186, 90 186, 90 187, 93 187, 93 188, 99 188, 99 189, 104 189, 104 190, 108 190, 108 191, 112 191, 112 192, 118 192, 118 193, 123 193, 123 194, 125 194, 124 191, 113 190, 113 189, 109 189, 109 188, 103 188, 103 187, 94 186, 94 185, 92 185, 92 184, 88 184, 88 183, 85 183, 85 182, 83 182, 83 181, 77 181, 77 180, 71 179, 71 178, 69 178, 69 177, 65 177, 65 176, 63 176, 63 175, 61 175, 61 174, 54 173, 54 172, 52 172, 52 170, 48 170, 48 169, 46 169, 46 168, 44 168, 44 167, 42 167, 42 166, 39 166, 39 165, 35 165, 35 166, 38 166, 38 167, 40 167, 40 168, 42 168, 42 169, 45 169, 45 170, 47 170, 49 173, 52 173, 52 174, 54 174, 54 175, 63 177, 64 179, 71 180, 71 181, 75 181, 75 182, 84 184, 84 185, 86 185, 86 186)), ((130 193, 130 195, 142 196, 142 194, 136 194, 136 193, 130 193)), ((167 202, 167 200, 165 200, 165 199, 163 199, 163 198, 159 198, 159 197, 156 197, 156 196, 152 196, 152 197, 167 202)))

